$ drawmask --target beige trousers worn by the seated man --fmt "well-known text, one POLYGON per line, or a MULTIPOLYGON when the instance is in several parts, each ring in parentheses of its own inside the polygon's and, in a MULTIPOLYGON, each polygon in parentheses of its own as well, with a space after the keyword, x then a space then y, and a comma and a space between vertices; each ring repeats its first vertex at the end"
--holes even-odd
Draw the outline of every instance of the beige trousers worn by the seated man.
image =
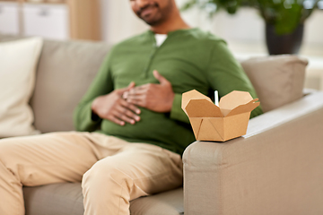
POLYGON ((180 156, 100 133, 0 140, 0 214, 23 215, 22 185, 81 182, 84 214, 126 215, 129 201, 182 183, 180 156))

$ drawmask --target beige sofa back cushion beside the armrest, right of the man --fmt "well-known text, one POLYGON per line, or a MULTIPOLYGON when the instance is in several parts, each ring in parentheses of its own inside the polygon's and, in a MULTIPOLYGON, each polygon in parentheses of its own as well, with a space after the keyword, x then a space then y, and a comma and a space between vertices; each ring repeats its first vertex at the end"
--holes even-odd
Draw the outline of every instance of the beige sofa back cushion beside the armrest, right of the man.
POLYGON ((264 112, 301 99, 308 61, 298 56, 263 56, 242 61, 264 112))

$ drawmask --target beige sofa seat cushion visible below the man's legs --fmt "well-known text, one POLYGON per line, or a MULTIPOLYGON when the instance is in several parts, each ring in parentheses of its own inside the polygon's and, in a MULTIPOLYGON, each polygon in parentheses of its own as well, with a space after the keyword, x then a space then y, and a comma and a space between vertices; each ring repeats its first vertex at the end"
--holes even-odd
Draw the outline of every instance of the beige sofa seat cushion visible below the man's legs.
MULTIPOLYGON (((80 183, 23 187, 26 215, 83 215, 80 183)), ((184 214, 183 189, 141 197, 130 202, 131 215, 184 214)))

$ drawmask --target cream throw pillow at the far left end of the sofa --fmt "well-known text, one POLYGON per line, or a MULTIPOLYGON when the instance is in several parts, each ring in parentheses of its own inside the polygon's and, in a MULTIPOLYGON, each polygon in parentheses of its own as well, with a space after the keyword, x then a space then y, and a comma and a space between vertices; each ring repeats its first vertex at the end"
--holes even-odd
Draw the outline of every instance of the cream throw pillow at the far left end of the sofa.
POLYGON ((0 138, 39 133, 28 103, 41 47, 39 38, 0 43, 0 138))

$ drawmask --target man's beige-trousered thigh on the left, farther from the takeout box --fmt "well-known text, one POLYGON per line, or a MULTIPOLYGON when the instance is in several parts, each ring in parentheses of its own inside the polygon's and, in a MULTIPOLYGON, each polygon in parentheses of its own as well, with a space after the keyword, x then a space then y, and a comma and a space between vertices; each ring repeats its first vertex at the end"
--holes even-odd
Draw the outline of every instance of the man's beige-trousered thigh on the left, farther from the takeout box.
POLYGON ((0 140, 0 161, 22 185, 80 182, 97 161, 83 133, 48 133, 0 140))

